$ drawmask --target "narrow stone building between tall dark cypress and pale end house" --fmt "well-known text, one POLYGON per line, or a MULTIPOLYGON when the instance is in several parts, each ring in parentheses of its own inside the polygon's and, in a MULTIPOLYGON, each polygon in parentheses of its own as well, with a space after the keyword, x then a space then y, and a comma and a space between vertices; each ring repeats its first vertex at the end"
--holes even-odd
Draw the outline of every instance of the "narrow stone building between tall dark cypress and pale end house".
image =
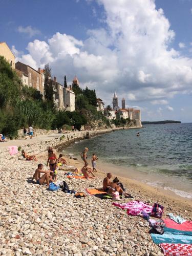
POLYGON ((53 87, 53 100, 55 105, 59 109, 64 109, 64 102, 63 102, 63 86, 62 84, 57 82, 56 76, 54 78, 50 78, 49 81, 52 83, 53 87))

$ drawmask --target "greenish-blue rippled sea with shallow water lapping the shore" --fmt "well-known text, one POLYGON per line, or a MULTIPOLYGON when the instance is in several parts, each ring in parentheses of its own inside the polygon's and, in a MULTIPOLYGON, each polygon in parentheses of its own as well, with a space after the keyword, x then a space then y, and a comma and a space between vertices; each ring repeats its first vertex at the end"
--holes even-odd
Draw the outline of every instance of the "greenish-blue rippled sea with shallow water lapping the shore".
POLYGON ((90 164, 92 154, 97 155, 99 169, 111 166, 121 176, 192 199, 192 123, 119 130, 75 142, 64 151, 80 159, 84 147, 90 164))

